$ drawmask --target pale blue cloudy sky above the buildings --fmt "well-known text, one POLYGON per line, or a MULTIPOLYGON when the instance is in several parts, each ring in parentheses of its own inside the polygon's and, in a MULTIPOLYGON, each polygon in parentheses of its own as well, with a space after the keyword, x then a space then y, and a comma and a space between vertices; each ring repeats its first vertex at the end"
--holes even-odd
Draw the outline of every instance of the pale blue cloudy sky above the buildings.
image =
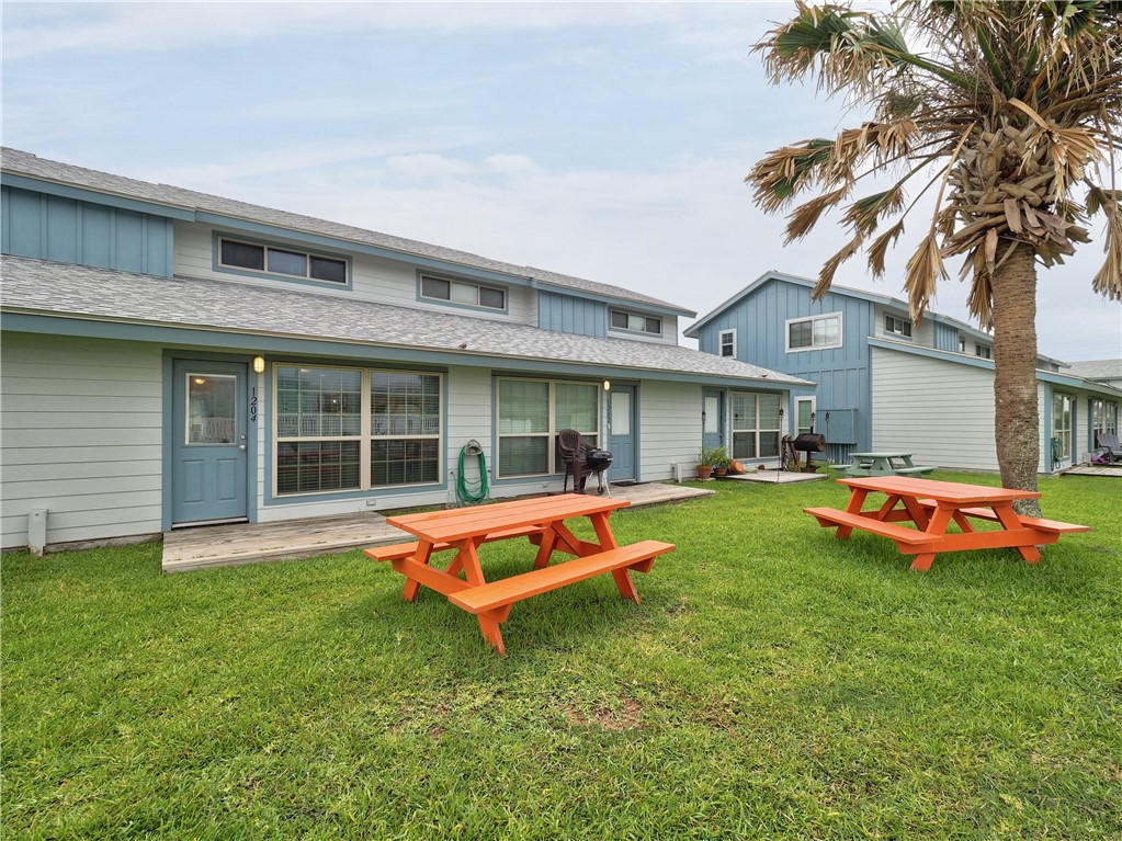
MULTIPOLYGON (((816 277, 826 218, 784 246, 744 176, 865 114, 769 83, 751 50, 791 2, 142 2, 2 7, 3 145, 614 284, 705 315, 770 269, 816 277)), ((873 280, 902 297, 925 219, 873 280)), ((1091 290, 1102 228, 1039 272, 1038 349, 1122 357, 1091 290)), ((971 321, 949 264, 935 312, 971 321)), ((688 325, 690 320, 683 322, 688 325)), ((687 342, 688 343, 688 342, 687 342)))

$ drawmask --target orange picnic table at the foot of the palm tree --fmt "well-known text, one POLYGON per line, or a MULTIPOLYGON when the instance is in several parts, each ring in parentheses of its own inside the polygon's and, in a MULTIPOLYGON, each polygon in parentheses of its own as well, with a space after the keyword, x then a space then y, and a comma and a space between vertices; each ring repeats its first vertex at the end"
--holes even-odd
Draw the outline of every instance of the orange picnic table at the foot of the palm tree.
POLYGON ((839 479, 852 493, 844 511, 836 508, 804 508, 820 526, 837 526, 836 537, 845 540, 853 530, 870 532, 894 542, 904 555, 914 555, 911 569, 927 572, 940 552, 1011 547, 1027 563, 1040 560, 1038 545, 1052 544, 1061 534, 1089 532, 1089 526, 1022 517, 1013 510, 1018 499, 1038 499, 1037 491, 987 488, 934 479, 881 475, 839 479), (888 499, 864 510, 870 493, 888 499), (1000 529, 977 530, 972 520, 988 520, 1000 529), (910 523, 912 527, 896 525, 910 523), (948 532, 954 523, 959 532, 948 532))

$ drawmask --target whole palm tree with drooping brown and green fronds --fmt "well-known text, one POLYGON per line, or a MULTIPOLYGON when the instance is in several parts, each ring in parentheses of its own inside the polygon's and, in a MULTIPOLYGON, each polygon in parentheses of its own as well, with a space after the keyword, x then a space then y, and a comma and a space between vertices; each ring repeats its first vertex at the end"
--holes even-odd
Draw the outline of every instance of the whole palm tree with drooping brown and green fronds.
POLYGON ((772 81, 809 76, 874 115, 756 163, 745 178, 756 204, 772 213, 813 192, 788 216, 790 243, 845 203, 853 235, 822 266, 820 297, 859 251, 882 277, 909 211, 934 196, 907 265, 912 317, 947 277, 944 261, 965 256, 971 313, 994 332, 1002 482, 1036 490, 1037 265, 1063 262, 1101 215, 1106 259, 1092 287, 1122 298, 1122 2, 895 0, 870 12, 797 0, 795 12, 754 47, 772 81), (854 198, 870 177, 880 186, 854 198))

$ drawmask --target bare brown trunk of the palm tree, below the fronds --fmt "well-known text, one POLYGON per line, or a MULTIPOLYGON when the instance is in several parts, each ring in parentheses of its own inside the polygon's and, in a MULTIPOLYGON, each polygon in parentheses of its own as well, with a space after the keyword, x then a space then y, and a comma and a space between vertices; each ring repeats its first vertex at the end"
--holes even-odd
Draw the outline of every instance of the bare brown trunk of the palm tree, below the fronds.
MULTIPOLYGON (((1006 247, 1002 241, 999 253, 1006 247)), ((1018 490, 1037 489, 1040 463, 1040 423, 1037 399, 1037 267, 1023 243, 993 274, 994 433, 1001 483, 1018 490)), ((1015 506, 1019 514, 1039 517, 1037 500, 1015 506)))

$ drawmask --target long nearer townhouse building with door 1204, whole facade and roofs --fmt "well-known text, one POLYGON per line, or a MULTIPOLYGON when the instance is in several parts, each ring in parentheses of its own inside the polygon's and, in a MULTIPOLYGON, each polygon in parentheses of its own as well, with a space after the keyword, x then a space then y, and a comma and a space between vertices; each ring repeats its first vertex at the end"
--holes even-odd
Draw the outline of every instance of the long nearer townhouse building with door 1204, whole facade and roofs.
MULTIPOLYGON (((650 295, 353 225, 0 153, 2 547, 130 540, 560 490, 578 429, 611 481, 692 478, 708 407, 813 385, 679 344, 650 295), (716 401, 716 403, 715 403, 716 401)), ((711 433, 709 433, 711 434, 711 433)))

